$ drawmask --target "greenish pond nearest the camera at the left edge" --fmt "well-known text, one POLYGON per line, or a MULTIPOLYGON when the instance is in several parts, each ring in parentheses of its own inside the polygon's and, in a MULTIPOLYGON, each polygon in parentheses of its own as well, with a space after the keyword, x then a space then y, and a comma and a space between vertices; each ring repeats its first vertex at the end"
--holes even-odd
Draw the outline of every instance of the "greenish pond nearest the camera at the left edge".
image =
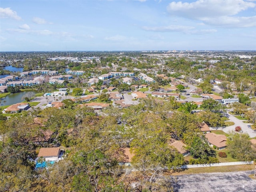
POLYGON ((0 102, 1 102, 0 104, 1 104, 1 106, 6 106, 6 105, 13 105, 16 103, 20 103, 20 102, 24 101, 24 100, 22 100, 22 97, 26 93, 29 93, 29 92, 36 94, 35 91, 24 91, 24 92, 20 92, 20 93, 11 93, 10 95, 7 95, 4 98, 0 98, 0 102), (4 101, 6 101, 6 102, 4 102, 4 101))

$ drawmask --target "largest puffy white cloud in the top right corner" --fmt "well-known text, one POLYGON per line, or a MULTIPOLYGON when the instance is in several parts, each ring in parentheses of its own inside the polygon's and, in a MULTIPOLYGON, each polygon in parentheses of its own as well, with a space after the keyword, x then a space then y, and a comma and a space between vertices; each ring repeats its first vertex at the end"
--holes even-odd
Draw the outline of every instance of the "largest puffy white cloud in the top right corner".
POLYGON ((171 2, 170 14, 200 20, 205 24, 228 27, 256 26, 255 16, 235 17, 236 14, 254 8, 256 4, 244 0, 197 0, 196 2, 171 2))

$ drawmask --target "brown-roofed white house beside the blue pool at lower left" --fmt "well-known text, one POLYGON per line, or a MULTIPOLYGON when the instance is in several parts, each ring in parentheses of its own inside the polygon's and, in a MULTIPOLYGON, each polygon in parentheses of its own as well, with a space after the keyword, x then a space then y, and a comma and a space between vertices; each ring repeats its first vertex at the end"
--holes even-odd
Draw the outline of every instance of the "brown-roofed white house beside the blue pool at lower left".
POLYGON ((40 148, 38 157, 45 158, 46 161, 56 161, 60 156, 59 147, 40 148))

